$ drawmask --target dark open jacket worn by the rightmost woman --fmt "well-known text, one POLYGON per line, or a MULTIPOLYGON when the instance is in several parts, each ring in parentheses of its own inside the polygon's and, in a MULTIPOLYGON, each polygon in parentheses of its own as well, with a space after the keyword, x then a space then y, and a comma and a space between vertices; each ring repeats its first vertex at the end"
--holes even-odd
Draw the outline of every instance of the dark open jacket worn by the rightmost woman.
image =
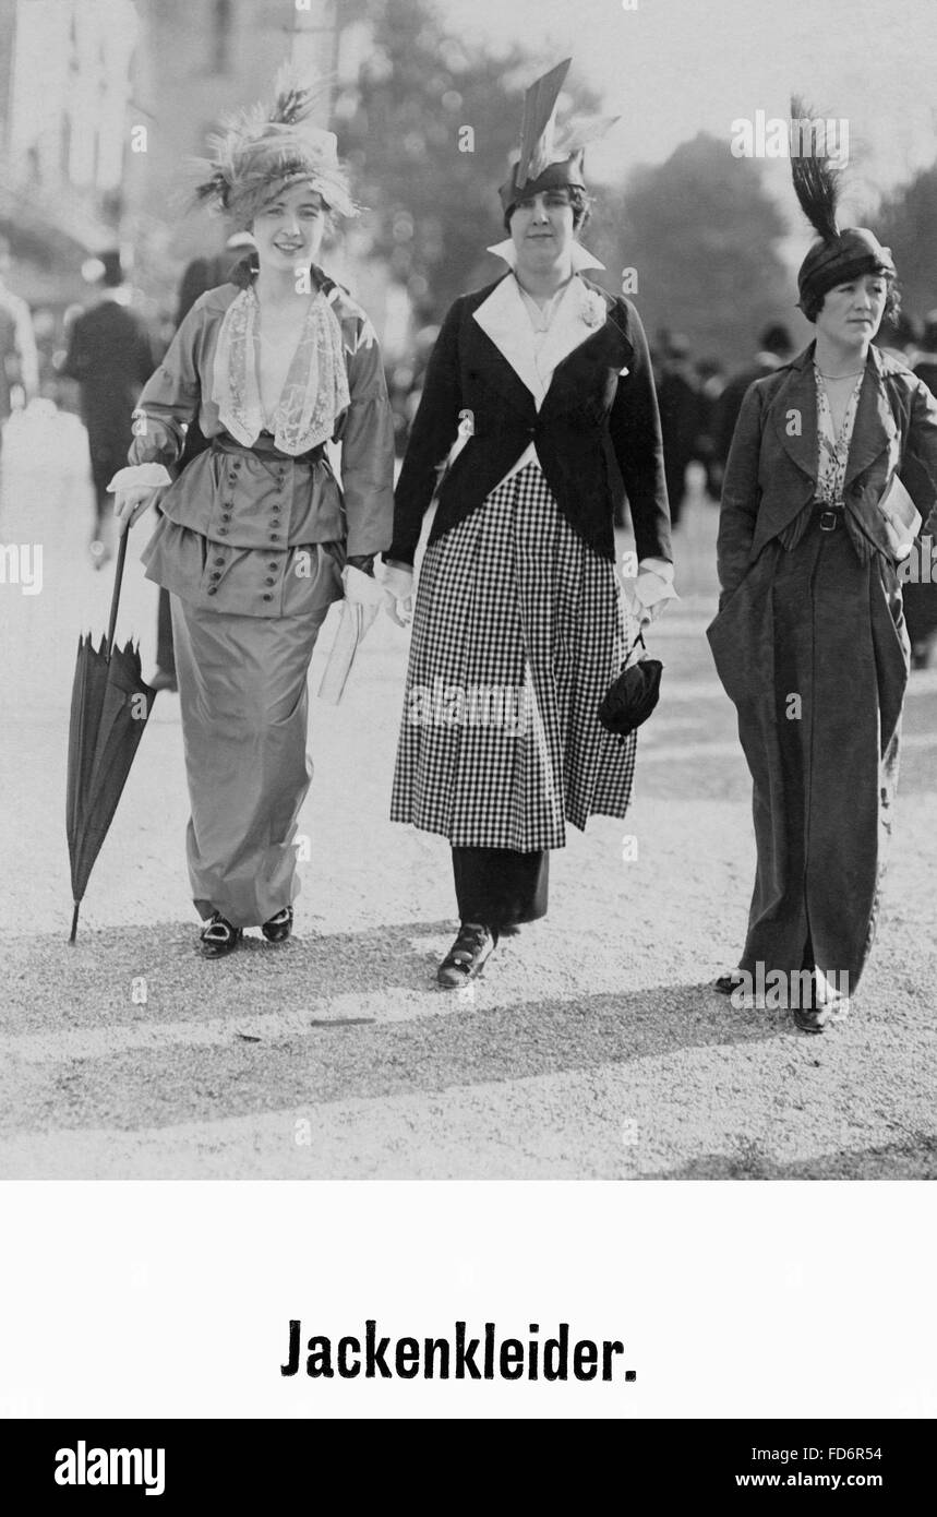
MULTIPOLYGON (((719 519, 720 605, 761 549, 810 505, 817 488, 814 344, 747 391, 738 416, 719 519)), ((898 473, 925 529, 937 505, 937 400, 910 369, 869 349, 843 502, 860 532, 890 557, 876 510, 898 473)), ((937 526, 937 513, 934 514, 937 526)))

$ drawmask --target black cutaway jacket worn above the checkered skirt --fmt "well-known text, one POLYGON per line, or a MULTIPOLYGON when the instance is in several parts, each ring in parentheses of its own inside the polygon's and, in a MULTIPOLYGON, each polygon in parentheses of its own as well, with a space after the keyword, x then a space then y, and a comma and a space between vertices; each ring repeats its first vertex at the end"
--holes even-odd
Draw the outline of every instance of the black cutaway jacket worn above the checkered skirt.
POLYGON ((459 414, 470 411, 473 435, 440 487, 431 542, 475 511, 534 441, 559 510, 590 548, 616 557, 614 513, 623 479, 638 558, 670 563, 661 428, 635 308, 584 281, 603 297, 606 319, 558 364, 537 411, 525 382, 473 320, 496 284, 459 296, 446 316, 397 481, 394 540, 385 557, 414 561, 438 467, 455 441, 459 414), (628 369, 625 376, 622 369, 628 369))

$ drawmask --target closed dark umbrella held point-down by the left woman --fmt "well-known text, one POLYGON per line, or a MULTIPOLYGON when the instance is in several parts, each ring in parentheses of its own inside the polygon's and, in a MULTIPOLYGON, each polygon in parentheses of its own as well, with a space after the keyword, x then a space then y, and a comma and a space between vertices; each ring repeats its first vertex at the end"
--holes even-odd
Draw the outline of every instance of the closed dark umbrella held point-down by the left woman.
POLYGON ((156 692, 139 675, 139 649, 127 643, 114 646, 114 627, 120 583, 127 557, 127 534, 120 539, 108 636, 100 648, 91 634, 79 639, 71 721, 68 727, 68 792, 65 830, 71 857, 71 895, 74 915, 71 938, 77 933, 79 906, 94 868, 117 802, 133 763, 133 754, 147 725, 156 692))

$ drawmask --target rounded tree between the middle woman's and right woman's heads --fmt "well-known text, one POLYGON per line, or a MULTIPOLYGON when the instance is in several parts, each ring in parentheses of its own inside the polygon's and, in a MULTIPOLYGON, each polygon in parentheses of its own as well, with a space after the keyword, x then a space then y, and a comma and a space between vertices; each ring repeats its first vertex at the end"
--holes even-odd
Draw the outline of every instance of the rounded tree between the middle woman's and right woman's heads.
POLYGON ((737 363, 767 322, 793 317, 778 255, 785 231, 761 165, 699 132, 666 162, 637 168, 625 190, 599 191, 587 241, 608 288, 620 288, 623 267, 637 270, 632 299, 649 332, 679 331, 694 355, 737 363))

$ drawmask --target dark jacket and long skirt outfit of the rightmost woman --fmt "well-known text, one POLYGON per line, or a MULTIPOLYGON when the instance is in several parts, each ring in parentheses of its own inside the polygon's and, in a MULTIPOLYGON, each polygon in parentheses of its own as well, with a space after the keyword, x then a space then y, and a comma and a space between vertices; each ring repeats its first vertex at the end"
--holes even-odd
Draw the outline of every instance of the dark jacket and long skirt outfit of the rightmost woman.
POLYGON ((876 510, 895 473, 937 523, 937 402, 878 349, 832 531, 813 507, 813 344, 747 391, 708 639, 754 780, 758 869, 740 962, 751 974, 758 962, 766 972, 816 965, 848 975, 852 991, 872 945, 908 678, 901 586, 876 510))

